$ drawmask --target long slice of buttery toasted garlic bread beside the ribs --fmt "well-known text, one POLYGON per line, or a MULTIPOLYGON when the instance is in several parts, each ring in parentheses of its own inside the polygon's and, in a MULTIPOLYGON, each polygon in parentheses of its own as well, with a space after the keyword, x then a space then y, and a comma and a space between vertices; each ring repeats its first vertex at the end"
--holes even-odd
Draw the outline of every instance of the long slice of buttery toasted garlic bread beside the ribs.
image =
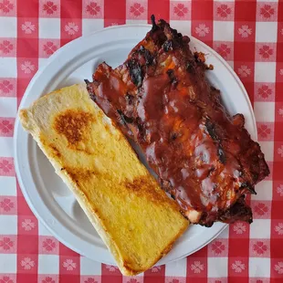
POLYGON ((19 117, 124 275, 145 271, 168 253, 188 222, 84 85, 51 92, 19 117))

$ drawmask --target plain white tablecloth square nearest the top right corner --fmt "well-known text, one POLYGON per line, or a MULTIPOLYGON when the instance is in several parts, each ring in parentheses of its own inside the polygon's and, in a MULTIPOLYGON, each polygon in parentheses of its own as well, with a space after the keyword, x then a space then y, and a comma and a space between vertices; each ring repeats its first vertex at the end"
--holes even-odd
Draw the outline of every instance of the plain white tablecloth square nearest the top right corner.
POLYGON ((278 23, 277 22, 257 22, 256 42, 277 42, 278 23))

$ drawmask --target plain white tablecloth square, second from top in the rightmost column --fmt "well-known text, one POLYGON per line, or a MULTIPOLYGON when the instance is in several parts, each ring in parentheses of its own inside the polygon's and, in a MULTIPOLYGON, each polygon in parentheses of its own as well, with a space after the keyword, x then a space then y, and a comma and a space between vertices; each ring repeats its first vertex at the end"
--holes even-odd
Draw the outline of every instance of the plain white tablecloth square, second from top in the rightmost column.
POLYGON ((255 62, 256 82, 275 82, 276 62, 255 62))

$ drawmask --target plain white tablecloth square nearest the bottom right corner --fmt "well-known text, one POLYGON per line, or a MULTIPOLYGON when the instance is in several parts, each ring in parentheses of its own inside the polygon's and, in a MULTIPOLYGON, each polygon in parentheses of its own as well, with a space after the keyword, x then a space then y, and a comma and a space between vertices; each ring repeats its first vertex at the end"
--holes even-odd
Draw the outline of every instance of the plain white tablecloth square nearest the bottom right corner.
POLYGON ((270 258, 249 257, 249 277, 270 278, 270 258))

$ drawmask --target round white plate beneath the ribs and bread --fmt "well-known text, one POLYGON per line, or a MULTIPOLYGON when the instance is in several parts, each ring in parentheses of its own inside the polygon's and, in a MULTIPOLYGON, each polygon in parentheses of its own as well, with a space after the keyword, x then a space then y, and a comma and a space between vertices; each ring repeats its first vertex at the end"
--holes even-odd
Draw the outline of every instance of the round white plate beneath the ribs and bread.
MULTIPOLYGON (((90 80, 95 68, 104 60, 112 67, 118 66, 150 28, 147 25, 110 27, 87 37, 80 37, 60 48, 31 80, 20 108, 28 107, 34 100, 54 89, 82 82, 83 79, 90 80)), ((191 38, 191 47, 204 52, 207 63, 214 65, 215 70, 208 71, 207 76, 217 89, 221 89, 227 109, 231 114, 241 112, 245 115, 246 129, 256 139, 255 118, 243 84, 213 49, 194 37, 191 38)), ((79 254, 115 265, 113 257, 90 225, 73 194, 54 173, 45 155, 22 129, 18 120, 15 127, 15 163, 18 182, 26 202, 47 229, 79 254)), ((194 253, 219 235, 225 226, 222 223, 215 223, 211 228, 192 225, 158 265, 194 253)))

